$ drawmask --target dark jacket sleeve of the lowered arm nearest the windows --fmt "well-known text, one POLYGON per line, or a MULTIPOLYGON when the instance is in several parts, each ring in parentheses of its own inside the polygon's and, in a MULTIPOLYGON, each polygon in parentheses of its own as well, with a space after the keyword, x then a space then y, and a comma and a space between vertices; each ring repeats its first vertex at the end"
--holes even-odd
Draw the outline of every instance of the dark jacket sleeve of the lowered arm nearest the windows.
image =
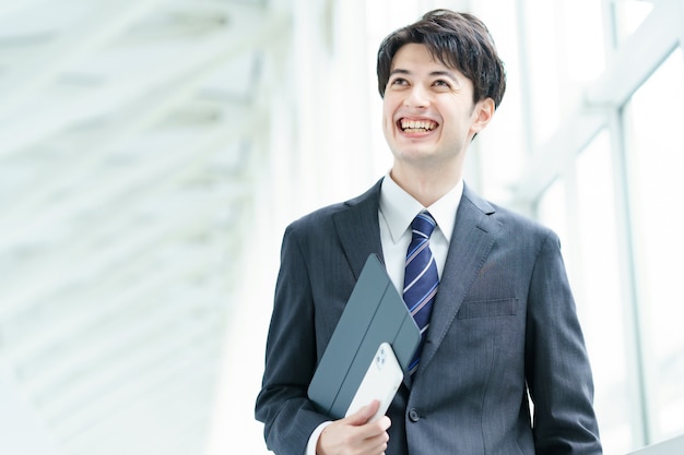
POLYGON ((591 369, 553 232, 541 244, 531 277, 526 345, 536 454, 601 454, 591 369))

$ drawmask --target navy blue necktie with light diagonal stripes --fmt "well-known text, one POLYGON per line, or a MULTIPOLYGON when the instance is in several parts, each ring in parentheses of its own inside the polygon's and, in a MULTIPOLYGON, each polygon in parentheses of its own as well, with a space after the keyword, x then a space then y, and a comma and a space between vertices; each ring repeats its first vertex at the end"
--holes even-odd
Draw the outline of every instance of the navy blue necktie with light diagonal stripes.
POLYGON ((429 316, 439 286, 437 264, 429 249, 429 236, 436 225, 428 212, 421 212, 411 224, 413 234, 406 252, 403 297, 421 330, 421 344, 409 366, 411 374, 417 370, 421 351, 425 343, 425 332, 429 325, 429 316))

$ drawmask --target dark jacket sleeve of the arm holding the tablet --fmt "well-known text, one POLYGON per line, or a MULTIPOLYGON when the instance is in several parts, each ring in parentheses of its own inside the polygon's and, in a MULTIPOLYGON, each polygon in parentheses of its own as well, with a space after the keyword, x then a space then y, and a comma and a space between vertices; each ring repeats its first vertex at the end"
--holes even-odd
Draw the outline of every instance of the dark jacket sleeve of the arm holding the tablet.
POLYGON ((278 455, 304 454, 312 431, 327 420, 307 398, 316 359, 309 273, 296 230, 290 226, 283 237, 262 387, 256 402, 267 446, 278 455))

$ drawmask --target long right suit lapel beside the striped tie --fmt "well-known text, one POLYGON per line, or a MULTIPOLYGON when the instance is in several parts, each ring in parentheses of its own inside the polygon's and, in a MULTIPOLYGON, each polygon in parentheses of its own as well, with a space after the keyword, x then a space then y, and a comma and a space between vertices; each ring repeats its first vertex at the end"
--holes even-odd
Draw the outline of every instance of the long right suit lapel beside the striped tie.
POLYGON ((463 303, 470 285, 494 246, 496 235, 500 229, 500 223, 490 216, 494 212, 491 204, 470 191, 468 187, 463 189, 447 262, 431 316, 428 343, 423 348, 418 371, 427 367, 439 348, 463 303))

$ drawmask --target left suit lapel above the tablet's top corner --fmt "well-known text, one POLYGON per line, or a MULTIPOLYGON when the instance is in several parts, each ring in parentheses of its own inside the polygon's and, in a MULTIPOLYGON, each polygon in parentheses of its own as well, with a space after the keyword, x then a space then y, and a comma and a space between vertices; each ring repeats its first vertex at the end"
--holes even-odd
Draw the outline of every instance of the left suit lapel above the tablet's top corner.
POLYGON ((380 261, 385 262, 378 225, 381 181, 379 180, 361 196, 345 202, 346 209, 333 215, 342 249, 356 279, 361 275, 368 254, 376 253, 380 261))

